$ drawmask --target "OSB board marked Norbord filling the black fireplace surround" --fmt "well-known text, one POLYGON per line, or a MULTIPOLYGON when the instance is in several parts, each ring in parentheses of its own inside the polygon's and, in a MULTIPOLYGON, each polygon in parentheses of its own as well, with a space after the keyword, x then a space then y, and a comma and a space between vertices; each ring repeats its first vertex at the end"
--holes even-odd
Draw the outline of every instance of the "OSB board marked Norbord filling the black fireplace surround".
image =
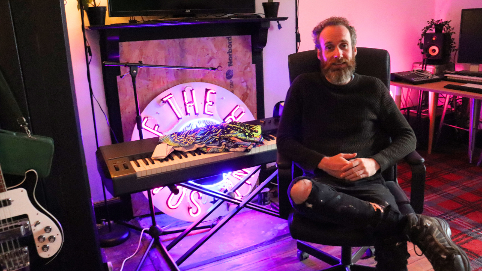
MULTIPOLYGON (((218 67, 222 71, 140 68, 137 80, 139 108, 163 91, 187 82, 207 82, 230 90, 256 112, 256 73, 251 63, 251 37, 161 39, 119 43, 120 62, 186 67, 218 67), (231 49, 231 50, 230 50, 231 49), (230 60, 232 62, 230 62, 230 60)), ((121 67, 121 74, 129 72, 121 67)), ((117 77, 124 141, 130 141, 135 125, 135 102, 130 76, 117 77)))

